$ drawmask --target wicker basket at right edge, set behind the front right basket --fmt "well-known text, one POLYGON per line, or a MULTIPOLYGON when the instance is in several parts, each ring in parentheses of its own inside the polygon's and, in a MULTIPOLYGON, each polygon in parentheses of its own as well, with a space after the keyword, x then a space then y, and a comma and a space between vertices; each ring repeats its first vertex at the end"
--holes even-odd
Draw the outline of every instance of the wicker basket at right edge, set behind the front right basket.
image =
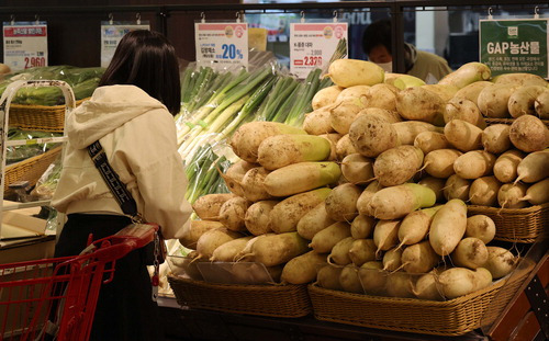
POLYGON ((495 239, 511 242, 534 242, 549 232, 549 203, 526 208, 467 206, 469 216, 483 214, 495 223, 495 239))

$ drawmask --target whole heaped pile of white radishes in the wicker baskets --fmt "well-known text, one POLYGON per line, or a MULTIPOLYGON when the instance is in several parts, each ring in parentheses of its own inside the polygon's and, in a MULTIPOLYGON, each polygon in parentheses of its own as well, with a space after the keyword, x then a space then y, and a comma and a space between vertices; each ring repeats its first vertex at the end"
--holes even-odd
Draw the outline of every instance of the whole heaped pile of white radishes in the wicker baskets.
POLYGON ((494 245, 494 221, 467 206, 549 202, 548 82, 491 78, 480 62, 438 84, 351 59, 328 76, 335 86, 316 93, 303 130, 251 122, 234 134, 232 193, 197 201, 201 220, 180 239, 197 260, 421 299, 468 295, 513 271, 518 257, 494 245))

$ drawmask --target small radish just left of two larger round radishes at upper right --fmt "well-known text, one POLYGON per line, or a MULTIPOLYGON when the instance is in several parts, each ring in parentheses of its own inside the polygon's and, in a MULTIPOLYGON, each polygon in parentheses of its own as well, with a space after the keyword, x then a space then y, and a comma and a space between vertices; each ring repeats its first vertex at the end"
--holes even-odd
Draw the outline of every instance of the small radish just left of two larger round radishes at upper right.
POLYGON ((461 151, 481 149, 482 129, 469 122, 452 120, 445 125, 448 141, 461 151))

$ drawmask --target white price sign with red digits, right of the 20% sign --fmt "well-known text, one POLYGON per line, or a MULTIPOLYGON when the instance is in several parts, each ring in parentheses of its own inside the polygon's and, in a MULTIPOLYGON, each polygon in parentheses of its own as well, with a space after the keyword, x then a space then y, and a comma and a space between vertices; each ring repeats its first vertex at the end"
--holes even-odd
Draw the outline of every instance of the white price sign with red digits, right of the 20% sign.
POLYGON ((347 31, 347 23, 290 24, 290 72, 306 78, 312 69, 322 69, 347 31))

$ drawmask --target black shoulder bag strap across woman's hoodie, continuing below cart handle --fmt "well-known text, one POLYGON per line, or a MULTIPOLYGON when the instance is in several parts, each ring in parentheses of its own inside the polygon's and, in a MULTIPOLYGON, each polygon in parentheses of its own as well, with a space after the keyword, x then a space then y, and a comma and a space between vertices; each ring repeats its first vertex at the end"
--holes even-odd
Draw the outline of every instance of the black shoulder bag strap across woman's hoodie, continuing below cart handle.
MULTIPOLYGON (((145 224, 146 221, 137 212, 137 203, 133 198, 132 193, 127 191, 125 184, 120 181, 119 174, 116 174, 116 172, 112 169, 111 164, 109 163, 109 159, 107 158, 107 154, 103 150, 103 146, 101 146, 99 140, 88 146, 88 154, 90 155, 93 164, 96 164, 104 182, 114 195, 114 198, 122 208, 122 212, 132 217, 132 223, 145 224)), ((155 242, 149 243, 145 247, 146 263, 155 266, 155 273, 152 277, 153 300, 155 302, 158 296, 159 265, 161 262, 164 262, 166 253, 165 249, 166 247, 164 245, 164 240, 161 240, 160 238, 160 230, 155 234, 155 242)))

